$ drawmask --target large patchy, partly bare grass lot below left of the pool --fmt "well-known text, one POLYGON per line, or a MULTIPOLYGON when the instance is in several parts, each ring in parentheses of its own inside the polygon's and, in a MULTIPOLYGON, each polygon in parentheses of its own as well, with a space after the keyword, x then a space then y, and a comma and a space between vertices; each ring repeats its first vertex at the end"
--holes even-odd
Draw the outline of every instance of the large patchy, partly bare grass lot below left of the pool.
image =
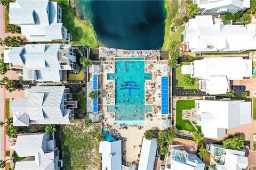
POLYGON ((100 124, 85 126, 84 122, 61 126, 63 169, 100 169, 99 142, 100 124))

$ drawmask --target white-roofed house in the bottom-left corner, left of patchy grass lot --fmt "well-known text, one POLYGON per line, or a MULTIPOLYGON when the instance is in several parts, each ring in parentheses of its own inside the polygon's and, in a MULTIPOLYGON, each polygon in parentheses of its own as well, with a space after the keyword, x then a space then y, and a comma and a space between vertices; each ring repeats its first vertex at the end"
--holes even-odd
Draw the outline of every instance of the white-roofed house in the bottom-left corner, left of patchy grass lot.
POLYGON ((14 150, 19 157, 25 157, 16 162, 15 170, 55 169, 63 166, 59 159, 59 150, 55 139, 50 139, 48 133, 30 133, 17 137, 14 150))

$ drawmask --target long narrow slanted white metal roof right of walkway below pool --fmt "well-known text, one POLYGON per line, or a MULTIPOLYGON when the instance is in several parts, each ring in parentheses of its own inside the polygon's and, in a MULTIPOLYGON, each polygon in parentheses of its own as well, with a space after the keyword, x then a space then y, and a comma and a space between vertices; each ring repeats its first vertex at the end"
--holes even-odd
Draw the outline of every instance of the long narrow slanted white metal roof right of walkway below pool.
POLYGON ((156 149, 156 139, 143 138, 138 170, 152 170, 154 168, 156 149))

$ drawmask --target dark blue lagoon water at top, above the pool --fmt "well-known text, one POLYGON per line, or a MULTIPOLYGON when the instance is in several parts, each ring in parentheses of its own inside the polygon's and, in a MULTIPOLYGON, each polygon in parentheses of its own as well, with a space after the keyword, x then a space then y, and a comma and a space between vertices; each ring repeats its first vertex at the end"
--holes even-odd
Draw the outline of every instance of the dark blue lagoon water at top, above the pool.
POLYGON ((121 49, 160 49, 164 41, 164 1, 78 1, 99 41, 121 49))

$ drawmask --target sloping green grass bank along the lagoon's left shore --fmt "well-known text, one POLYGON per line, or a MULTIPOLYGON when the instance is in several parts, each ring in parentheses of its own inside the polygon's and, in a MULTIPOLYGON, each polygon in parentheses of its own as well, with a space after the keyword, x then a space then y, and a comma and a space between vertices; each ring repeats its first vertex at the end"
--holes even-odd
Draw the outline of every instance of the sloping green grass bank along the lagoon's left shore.
MULTIPOLYGON (((56 0, 55 0, 56 1, 56 0)), ((72 44, 82 44, 90 47, 98 47, 99 41, 95 36, 92 25, 87 25, 76 17, 75 10, 69 9, 67 0, 59 0, 62 8, 62 22, 72 36, 72 44)))

